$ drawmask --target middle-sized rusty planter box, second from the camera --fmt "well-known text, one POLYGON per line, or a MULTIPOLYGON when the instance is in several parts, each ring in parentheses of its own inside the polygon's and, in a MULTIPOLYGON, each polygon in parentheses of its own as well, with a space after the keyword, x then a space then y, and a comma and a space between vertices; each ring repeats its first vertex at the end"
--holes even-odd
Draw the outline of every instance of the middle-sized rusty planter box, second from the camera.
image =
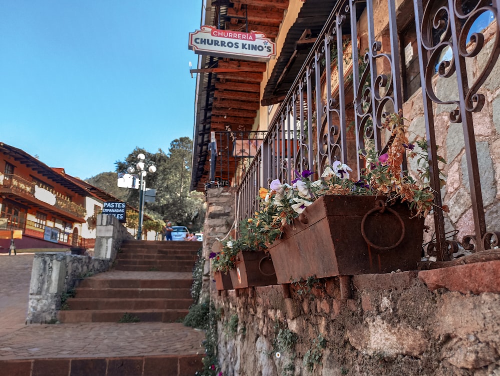
POLYGON ((233 288, 277 284, 272 260, 264 251, 239 252, 229 275, 233 288))

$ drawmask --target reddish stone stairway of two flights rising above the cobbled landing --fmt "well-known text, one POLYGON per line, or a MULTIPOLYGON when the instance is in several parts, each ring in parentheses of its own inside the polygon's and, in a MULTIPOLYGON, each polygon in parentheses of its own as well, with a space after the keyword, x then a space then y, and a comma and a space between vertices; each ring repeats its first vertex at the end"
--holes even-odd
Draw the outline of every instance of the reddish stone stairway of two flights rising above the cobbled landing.
POLYGON ((85 278, 58 312, 60 322, 173 322, 192 304, 194 241, 140 241, 122 244, 113 270, 85 278))

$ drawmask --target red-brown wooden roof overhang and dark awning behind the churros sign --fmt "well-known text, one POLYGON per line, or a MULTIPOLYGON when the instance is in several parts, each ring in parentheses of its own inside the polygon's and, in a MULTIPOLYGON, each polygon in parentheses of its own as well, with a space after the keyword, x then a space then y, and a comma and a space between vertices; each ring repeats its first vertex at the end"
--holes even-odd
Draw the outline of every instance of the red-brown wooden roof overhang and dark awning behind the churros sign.
MULTIPOLYGON (((288 0, 208 1, 205 25, 217 29, 258 31, 275 40, 288 0)), ((191 190, 204 191, 209 175, 211 131, 250 131, 260 104, 279 103, 284 98, 321 31, 336 0, 308 0, 285 38, 278 61, 261 97, 260 84, 266 63, 232 58, 198 56, 195 120, 191 167, 191 190)), ((230 148, 230 145, 217 145, 230 148)), ((236 163, 225 163, 232 176, 236 163)))

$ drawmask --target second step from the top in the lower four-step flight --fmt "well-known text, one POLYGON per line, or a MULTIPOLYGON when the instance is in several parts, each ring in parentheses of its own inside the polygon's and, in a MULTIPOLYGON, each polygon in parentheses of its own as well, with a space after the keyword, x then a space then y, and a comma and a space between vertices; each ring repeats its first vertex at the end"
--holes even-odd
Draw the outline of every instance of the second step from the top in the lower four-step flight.
MULTIPOLYGON (((77 288, 75 299, 190 299, 190 288, 77 288)), ((68 303, 72 299, 68 299, 68 303)))

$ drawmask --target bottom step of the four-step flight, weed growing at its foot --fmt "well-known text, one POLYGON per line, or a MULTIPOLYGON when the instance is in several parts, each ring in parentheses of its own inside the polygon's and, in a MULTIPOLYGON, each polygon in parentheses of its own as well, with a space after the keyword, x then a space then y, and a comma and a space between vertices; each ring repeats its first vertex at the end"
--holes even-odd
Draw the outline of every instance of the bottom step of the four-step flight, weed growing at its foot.
POLYGON ((184 317, 188 309, 140 309, 140 310, 69 310, 58 311, 58 320, 70 322, 118 322, 125 313, 139 318, 140 321, 173 322, 184 317))

